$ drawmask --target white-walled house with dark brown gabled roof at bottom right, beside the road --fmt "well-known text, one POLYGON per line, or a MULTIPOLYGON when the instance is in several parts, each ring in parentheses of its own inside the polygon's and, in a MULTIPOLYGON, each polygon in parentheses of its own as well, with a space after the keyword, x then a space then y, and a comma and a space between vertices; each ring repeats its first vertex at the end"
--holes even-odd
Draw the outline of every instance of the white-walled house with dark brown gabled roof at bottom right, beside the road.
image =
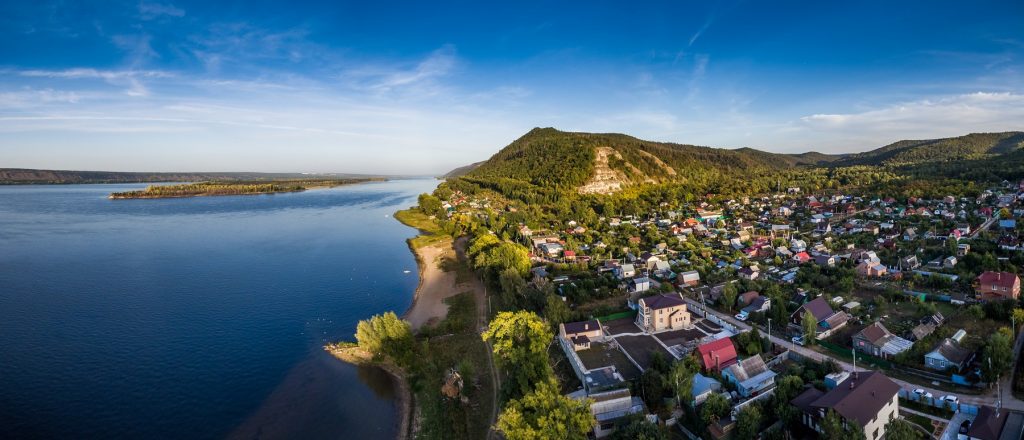
POLYGON ((880 440, 886 434, 886 424, 899 415, 900 386, 878 371, 854 372, 828 392, 808 388, 791 403, 801 411, 801 422, 808 428, 824 433, 821 427, 829 410, 844 426, 857 424, 867 440, 880 440))

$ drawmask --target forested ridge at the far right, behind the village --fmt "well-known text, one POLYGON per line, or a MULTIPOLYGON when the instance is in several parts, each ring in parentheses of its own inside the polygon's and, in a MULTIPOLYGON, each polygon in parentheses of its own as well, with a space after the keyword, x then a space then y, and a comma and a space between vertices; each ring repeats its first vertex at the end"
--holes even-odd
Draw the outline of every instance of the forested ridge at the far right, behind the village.
POLYGON ((972 133, 929 140, 901 140, 878 149, 850 155, 837 166, 908 166, 936 162, 977 161, 1024 149, 1024 132, 972 133))

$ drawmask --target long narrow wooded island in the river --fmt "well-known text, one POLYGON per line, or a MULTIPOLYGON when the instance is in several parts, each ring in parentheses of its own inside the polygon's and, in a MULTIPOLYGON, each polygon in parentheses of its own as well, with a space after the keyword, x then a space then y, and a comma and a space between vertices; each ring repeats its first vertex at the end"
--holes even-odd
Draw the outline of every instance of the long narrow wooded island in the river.
POLYGON ((150 185, 145 189, 112 192, 110 199, 169 199, 196 197, 204 195, 249 195, 272 194, 278 192, 299 192, 309 188, 334 187, 380 181, 381 178, 366 179, 315 179, 263 181, 198 182, 177 185, 150 185))

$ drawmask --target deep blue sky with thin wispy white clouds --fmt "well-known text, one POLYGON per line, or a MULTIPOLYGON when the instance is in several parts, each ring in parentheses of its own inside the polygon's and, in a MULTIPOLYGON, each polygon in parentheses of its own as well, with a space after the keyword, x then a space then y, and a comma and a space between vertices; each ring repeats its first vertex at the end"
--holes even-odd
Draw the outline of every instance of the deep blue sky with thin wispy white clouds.
POLYGON ((0 2, 0 167, 437 174, 534 127, 1024 130, 1024 2, 0 2))

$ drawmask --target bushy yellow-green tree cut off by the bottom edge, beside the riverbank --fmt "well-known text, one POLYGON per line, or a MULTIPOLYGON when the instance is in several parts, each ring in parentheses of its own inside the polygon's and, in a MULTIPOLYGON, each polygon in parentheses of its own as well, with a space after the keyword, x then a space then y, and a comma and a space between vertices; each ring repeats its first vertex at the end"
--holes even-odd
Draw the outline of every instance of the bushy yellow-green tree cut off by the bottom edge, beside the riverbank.
POLYGON ((597 423, 590 403, 561 395, 555 380, 548 378, 531 393, 510 400, 497 428, 509 440, 584 440, 597 423))

